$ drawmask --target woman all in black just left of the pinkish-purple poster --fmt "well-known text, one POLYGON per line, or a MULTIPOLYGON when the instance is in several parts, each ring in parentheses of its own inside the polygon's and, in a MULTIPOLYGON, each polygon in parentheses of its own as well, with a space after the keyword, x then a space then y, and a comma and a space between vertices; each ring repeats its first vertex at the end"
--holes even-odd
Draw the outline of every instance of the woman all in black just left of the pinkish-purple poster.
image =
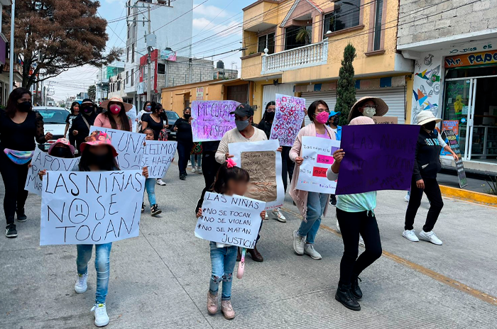
POLYGON ((178 167, 180 168, 180 179, 184 181, 187 177, 186 167, 193 146, 192 108, 185 108, 183 116, 175 122, 173 130, 177 132, 176 140, 178 141, 178 155, 180 157, 178 167))

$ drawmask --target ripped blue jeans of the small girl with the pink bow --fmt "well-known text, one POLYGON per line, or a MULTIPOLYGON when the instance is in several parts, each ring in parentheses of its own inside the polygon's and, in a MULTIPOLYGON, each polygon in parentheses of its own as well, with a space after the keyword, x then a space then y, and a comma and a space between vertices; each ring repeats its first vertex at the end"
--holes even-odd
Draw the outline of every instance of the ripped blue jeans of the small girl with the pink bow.
POLYGON ((236 264, 236 253, 238 247, 229 245, 218 248, 216 242, 210 242, 212 276, 209 283, 209 292, 217 296, 219 284, 223 282, 222 301, 231 299, 231 281, 233 280, 233 270, 236 264))

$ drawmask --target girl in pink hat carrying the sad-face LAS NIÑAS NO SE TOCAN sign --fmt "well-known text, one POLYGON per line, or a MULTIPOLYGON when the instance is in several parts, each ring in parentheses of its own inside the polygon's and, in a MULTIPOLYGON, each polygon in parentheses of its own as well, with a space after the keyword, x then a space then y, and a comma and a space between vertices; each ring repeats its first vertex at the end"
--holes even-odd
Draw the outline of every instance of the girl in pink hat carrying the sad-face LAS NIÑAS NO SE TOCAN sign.
MULTIPOLYGON (((119 170, 116 163, 117 152, 111 144, 107 133, 94 131, 88 141, 81 145, 81 160, 73 172, 109 172, 119 170)), ((143 168, 143 176, 148 178, 148 169, 143 168)), ((97 272, 97 287, 95 289, 95 303, 92 311, 95 316, 95 325, 103 327, 109 323, 105 300, 109 288, 110 253, 112 242, 95 246, 95 270, 97 272)), ((88 262, 92 258, 93 245, 76 245, 77 247, 77 279, 75 291, 82 294, 87 291, 88 262)))

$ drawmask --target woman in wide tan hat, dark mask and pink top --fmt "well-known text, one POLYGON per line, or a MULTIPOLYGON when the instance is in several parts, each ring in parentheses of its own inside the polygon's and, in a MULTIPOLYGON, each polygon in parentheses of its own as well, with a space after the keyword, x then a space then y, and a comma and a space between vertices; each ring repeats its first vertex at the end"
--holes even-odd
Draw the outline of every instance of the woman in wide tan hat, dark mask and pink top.
POLYGON ((133 105, 124 103, 123 99, 119 96, 114 96, 107 101, 102 101, 100 106, 107 108, 107 111, 100 113, 95 118, 94 126, 133 131, 131 119, 126 115, 126 112, 133 108, 133 105))

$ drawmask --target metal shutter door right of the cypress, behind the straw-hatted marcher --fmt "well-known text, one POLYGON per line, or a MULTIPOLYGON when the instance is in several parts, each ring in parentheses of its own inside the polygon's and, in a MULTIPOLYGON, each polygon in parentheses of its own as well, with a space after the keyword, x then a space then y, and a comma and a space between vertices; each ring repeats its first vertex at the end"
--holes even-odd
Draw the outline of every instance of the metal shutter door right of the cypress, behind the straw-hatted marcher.
POLYGON ((364 96, 379 97, 388 105, 386 116, 398 117, 398 123, 405 123, 405 87, 357 90, 356 99, 364 96))

